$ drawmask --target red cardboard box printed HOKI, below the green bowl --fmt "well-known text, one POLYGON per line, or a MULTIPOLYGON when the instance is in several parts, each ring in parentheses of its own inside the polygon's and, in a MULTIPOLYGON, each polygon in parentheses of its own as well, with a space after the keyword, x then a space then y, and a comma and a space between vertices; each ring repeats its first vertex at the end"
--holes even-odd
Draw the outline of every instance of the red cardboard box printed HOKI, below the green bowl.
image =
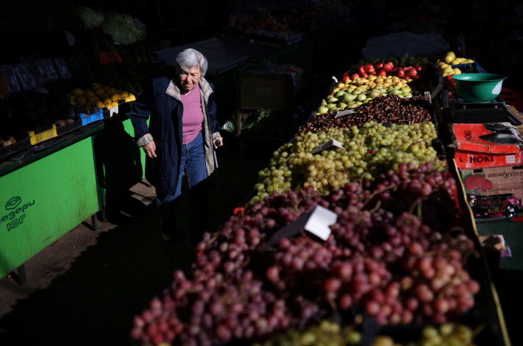
POLYGON ((458 168, 518 166, 523 163, 523 139, 510 123, 451 124, 458 168))

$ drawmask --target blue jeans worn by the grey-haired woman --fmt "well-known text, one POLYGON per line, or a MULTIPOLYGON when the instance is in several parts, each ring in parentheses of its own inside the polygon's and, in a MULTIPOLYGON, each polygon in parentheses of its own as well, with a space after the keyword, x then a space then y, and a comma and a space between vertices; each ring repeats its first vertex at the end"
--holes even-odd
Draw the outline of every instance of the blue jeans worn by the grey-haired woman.
POLYGON ((207 227, 208 180, 201 131, 193 141, 182 145, 175 194, 165 196, 157 194, 156 203, 160 214, 160 230, 171 236, 175 236, 177 232, 176 207, 180 202, 183 173, 185 173, 188 183, 190 203, 185 242, 195 246, 207 227))

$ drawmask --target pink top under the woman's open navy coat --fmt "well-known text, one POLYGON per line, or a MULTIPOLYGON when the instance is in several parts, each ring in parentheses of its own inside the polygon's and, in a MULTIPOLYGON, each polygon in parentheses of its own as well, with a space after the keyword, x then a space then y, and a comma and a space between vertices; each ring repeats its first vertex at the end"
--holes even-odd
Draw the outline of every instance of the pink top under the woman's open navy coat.
POLYGON ((182 131, 183 144, 188 144, 196 138, 202 129, 203 111, 198 83, 188 94, 180 94, 183 104, 182 131))

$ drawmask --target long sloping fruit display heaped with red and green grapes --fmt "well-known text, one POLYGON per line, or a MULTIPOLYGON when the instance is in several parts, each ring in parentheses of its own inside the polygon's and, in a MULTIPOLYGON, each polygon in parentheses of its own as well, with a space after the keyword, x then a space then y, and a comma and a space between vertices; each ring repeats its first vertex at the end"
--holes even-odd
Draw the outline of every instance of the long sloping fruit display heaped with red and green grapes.
POLYGON ((333 86, 135 316, 134 344, 510 345, 459 177, 433 146, 430 83, 357 78, 360 104, 340 105, 350 78, 333 86))

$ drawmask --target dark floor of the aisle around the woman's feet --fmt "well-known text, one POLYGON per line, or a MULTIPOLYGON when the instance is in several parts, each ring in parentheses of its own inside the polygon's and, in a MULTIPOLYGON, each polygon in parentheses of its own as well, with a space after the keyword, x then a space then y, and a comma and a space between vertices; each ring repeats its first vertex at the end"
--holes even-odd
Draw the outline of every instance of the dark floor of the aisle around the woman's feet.
MULTIPOLYGON (((210 190, 211 229, 244 205, 268 163, 268 152, 247 158, 234 139, 225 145, 210 190)), ((0 279, 0 345, 129 345, 134 315, 193 261, 185 245, 161 239, 154 199, 146 180, 137 183, 107 207, 107 222, 99 215, 97 232, 88 219, 26 261, 25 285, 0 279)))

